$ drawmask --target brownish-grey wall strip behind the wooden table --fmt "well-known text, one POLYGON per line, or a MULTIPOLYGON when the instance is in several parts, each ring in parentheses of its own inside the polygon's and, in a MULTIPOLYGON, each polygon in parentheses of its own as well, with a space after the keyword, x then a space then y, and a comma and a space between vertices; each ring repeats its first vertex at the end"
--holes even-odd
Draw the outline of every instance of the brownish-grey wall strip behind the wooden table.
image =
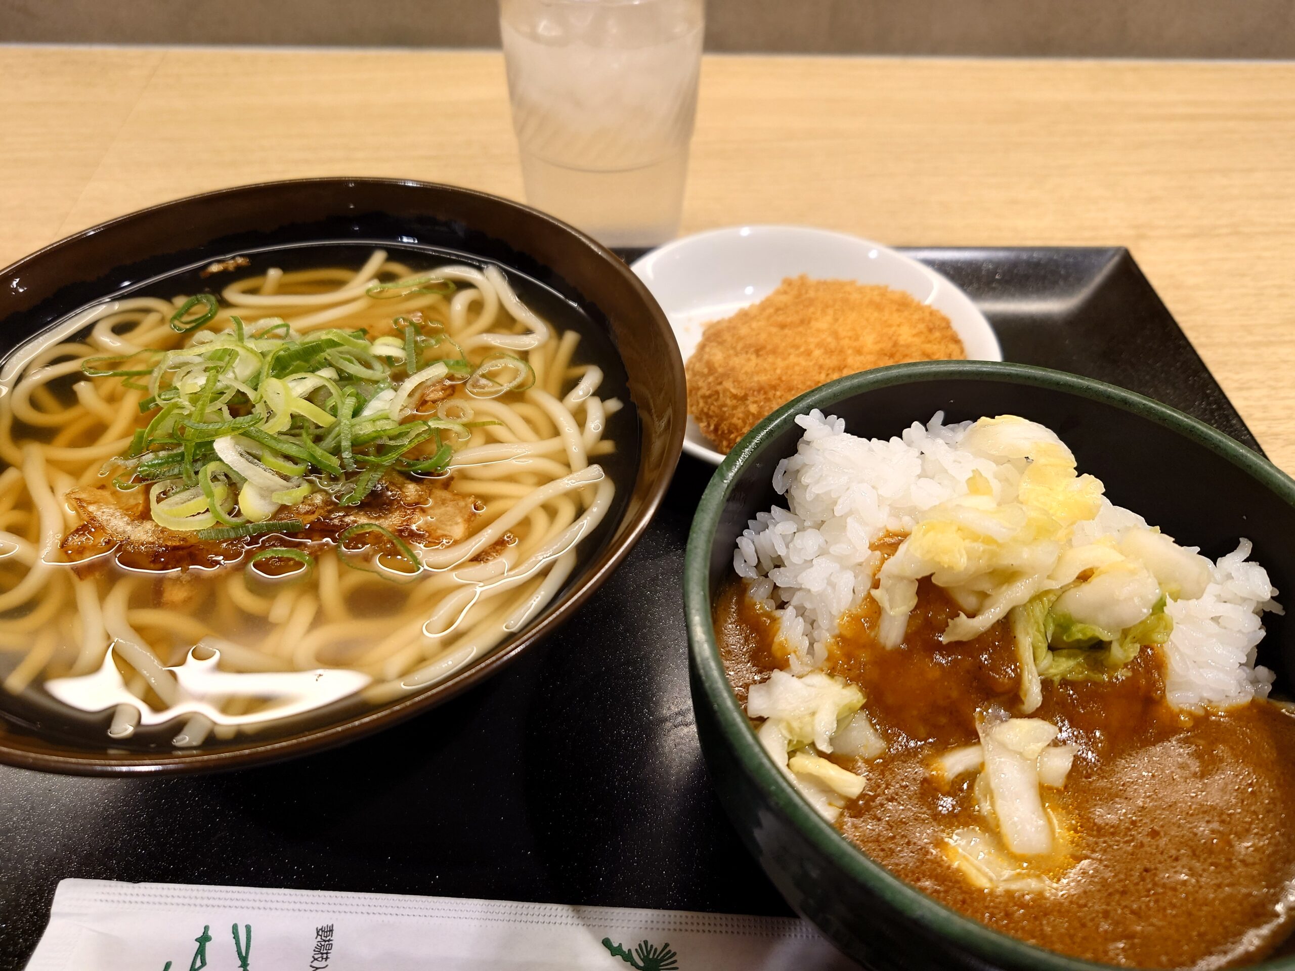
MULTIPOLYGON (((1295 57, 1295 0, 708 0, 712 50, 1295 57)), ((493 0, 0 0, 0 41, 493 47, 493 0)))

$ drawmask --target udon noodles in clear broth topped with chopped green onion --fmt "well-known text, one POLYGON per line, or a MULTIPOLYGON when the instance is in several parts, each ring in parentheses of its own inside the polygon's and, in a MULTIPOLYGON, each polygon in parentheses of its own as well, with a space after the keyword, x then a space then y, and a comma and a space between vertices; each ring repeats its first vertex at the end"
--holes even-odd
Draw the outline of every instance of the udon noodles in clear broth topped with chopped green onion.
POLYGON ((328 262, 351 252, 211 264, 10 355, 14 702, 127 746, 282 730, 482 658, 600 541, 623 377, 579 311, 462 258, 328 262))

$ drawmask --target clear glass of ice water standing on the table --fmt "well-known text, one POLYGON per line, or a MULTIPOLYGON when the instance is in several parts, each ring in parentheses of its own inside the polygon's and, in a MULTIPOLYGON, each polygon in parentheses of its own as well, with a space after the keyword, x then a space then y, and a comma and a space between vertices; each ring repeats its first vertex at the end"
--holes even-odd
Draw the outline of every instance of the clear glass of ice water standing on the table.
POLYGON ((609 246, 679 230, 703 0, 500 0, 526 198, 609 246))

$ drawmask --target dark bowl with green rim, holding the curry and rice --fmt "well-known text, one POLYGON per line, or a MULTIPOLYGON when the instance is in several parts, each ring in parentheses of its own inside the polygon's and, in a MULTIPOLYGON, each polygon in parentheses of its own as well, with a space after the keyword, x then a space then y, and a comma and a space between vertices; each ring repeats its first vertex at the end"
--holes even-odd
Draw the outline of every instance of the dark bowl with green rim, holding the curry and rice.
MULTIPOLYGON (((948 421, 1010 413, 1042 422, 1114 502, 1182 542, 1217 558, 1250 539, 1278 590, 1295 584, 1295 480, 1195 418, 1111 385, 1019 364, 931 361, 852 374, 783 405, 729 452, 702 496, 684 571, 697 731, 724 808, 791 906, 844 953, 887 971, 1102 967, 992 931, 892 876, 802 799, 737 703, 715 642, 712 594, 732 575, 747 520, 781 502, 773 471, 795 452, 795 417, 815 408, 865 438, 891 438, 938 410, 948 421)), ((1295 669, 1287 623, 1265 618, 1259 656, 1286 695, 1295 669)), ((1295 968, 1295 958, 1260 967, 1295 968)))

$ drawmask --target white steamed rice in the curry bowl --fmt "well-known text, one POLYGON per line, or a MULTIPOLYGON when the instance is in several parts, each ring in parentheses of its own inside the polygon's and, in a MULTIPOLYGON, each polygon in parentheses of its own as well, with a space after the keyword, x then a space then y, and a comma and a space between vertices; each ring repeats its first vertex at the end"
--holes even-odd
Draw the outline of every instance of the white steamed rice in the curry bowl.
MULTIPOLYGON (((738 537, 737 572, 751 597, 778 616, 793 673, 820 667, 839 618, 859 606, 881 563, 870 546, 887 532, 909 532, 923 510, 967 492, 979 469, 995 482, 993 462, 960 449, 971 426, 945 425, 939 412, 890 440, 846 432, 843 418, 821 412, 796 417, 804 429, 796 453, 778 463, 774 489, 787 508, 758 513, 738 537)), ((1145 526, 1142 517, 1102 501, 1093 520, 1079 523, 1076 541, 1090 542, 1145 526)), ((1180 708, 1242 704, 1265 697, 1273 673, 1255 667, 1264 636, 1260 616, 1279 611, 1277 590, 1242 540, 1219 559, 1206 593, 1173 601, 1166 695, 1180 708)))

